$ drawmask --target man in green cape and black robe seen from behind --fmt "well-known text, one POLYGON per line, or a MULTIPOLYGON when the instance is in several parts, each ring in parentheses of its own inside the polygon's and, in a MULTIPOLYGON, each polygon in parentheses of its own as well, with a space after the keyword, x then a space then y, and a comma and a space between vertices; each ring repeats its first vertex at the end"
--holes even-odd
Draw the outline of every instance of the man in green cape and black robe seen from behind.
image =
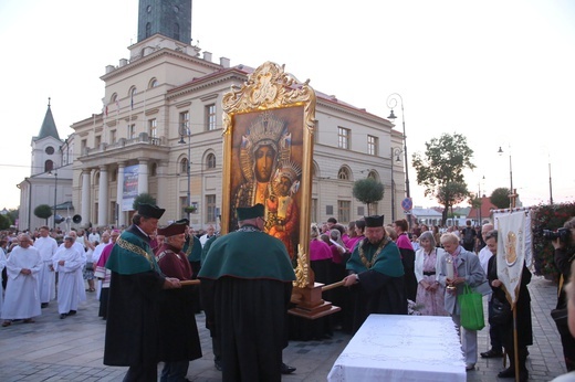
MULTIPOLYGON (((220 341, 223 381, 281 381, 295 279, 285 245, 263 232, 263 204, 237 208, 240 229, 216 240, 198 277, 220 341)), ((293 371, 293 370, 292 370, 293 371)))

